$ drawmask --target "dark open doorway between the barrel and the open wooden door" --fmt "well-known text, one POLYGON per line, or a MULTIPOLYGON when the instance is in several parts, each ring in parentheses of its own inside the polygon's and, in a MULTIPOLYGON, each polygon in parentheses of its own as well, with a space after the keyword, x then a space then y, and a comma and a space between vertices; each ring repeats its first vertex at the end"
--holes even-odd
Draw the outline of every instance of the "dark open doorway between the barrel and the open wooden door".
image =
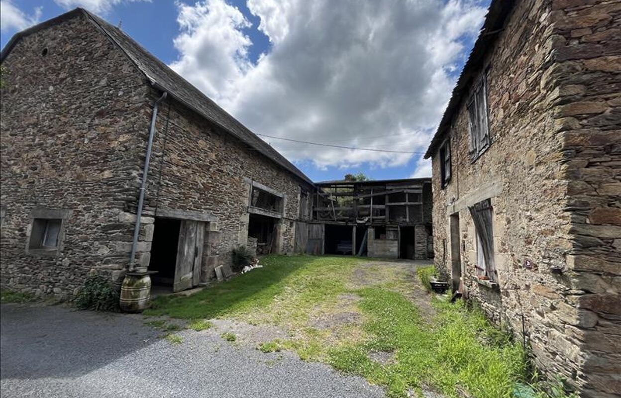
POLYGON ((181 220, 155 217, 149 261, 149 271, 157 271, 151 277, 153 284, 173 286, 180 227, 181 220))

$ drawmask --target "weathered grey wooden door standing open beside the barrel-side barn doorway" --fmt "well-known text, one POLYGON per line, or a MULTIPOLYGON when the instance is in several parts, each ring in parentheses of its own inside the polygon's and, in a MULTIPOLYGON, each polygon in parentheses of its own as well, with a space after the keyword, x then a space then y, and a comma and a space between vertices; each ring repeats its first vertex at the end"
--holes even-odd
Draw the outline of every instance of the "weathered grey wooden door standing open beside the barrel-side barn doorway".
POLYGON ((202 246, 205 237, 205 223, 181 220, 177 265, 173 291, 179 292, 197 286, 201 279, 202 246))

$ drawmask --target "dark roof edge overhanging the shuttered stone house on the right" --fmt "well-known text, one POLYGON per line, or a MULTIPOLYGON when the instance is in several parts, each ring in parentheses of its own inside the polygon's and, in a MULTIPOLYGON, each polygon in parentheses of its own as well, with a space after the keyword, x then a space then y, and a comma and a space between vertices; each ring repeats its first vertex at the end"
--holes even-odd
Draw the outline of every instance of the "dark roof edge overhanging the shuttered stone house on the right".
POLYGON ((457 80, 455 88, 453 88, 453 94, 448 102, 448 106, 446 106, 440 125, 438 125, 438 130, 436 130, 435 135, 433 135, 429 148, 427 148, 427 152, 425 152, 425 159, 430 158, 438 145, 442 143, 444 135, 453 120, 453 115, 459 110, 462 97, 468 94, 470 82, 473 78, 476 78, 481 70, 487 50, 492 48, 497 38, 497 33, 502 31, 504 22, 513 9, 514 3, 515 0, 492 0, 491 4, 489 4, 483 28, 474 43, 474 47, 470 52, 466 65, 464 65, 461 71, 460 78, 457 80))

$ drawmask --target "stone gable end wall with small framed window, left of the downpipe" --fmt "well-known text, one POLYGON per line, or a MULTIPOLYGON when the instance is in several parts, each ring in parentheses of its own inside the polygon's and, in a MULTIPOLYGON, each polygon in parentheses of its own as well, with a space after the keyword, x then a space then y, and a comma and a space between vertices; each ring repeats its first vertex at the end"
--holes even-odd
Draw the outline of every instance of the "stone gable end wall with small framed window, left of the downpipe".
POLYGON ((83 16, 20 39, 2 67, 2 288, 68 295, 91 269, 118 278, 148 130, 142 76, 83 16), (37 208, 70 210, 58 255, 26 252, 37 208))

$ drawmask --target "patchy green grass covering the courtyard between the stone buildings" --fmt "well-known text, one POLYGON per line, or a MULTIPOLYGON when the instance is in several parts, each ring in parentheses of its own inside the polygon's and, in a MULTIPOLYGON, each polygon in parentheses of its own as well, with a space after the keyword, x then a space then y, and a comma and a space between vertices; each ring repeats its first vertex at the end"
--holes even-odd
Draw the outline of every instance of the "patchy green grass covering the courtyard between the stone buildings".
POLYGON ((509 398, 527 378, 518 343, 479 311, 432 297, 411 263, 268 256, 261 264, 193 296, 158 297, 145 314, 279 327, 287 338, 264 341, 260 350, 292 350, 360 374, 391 397, 423 389, 457 397, 461 389, 509 398))

